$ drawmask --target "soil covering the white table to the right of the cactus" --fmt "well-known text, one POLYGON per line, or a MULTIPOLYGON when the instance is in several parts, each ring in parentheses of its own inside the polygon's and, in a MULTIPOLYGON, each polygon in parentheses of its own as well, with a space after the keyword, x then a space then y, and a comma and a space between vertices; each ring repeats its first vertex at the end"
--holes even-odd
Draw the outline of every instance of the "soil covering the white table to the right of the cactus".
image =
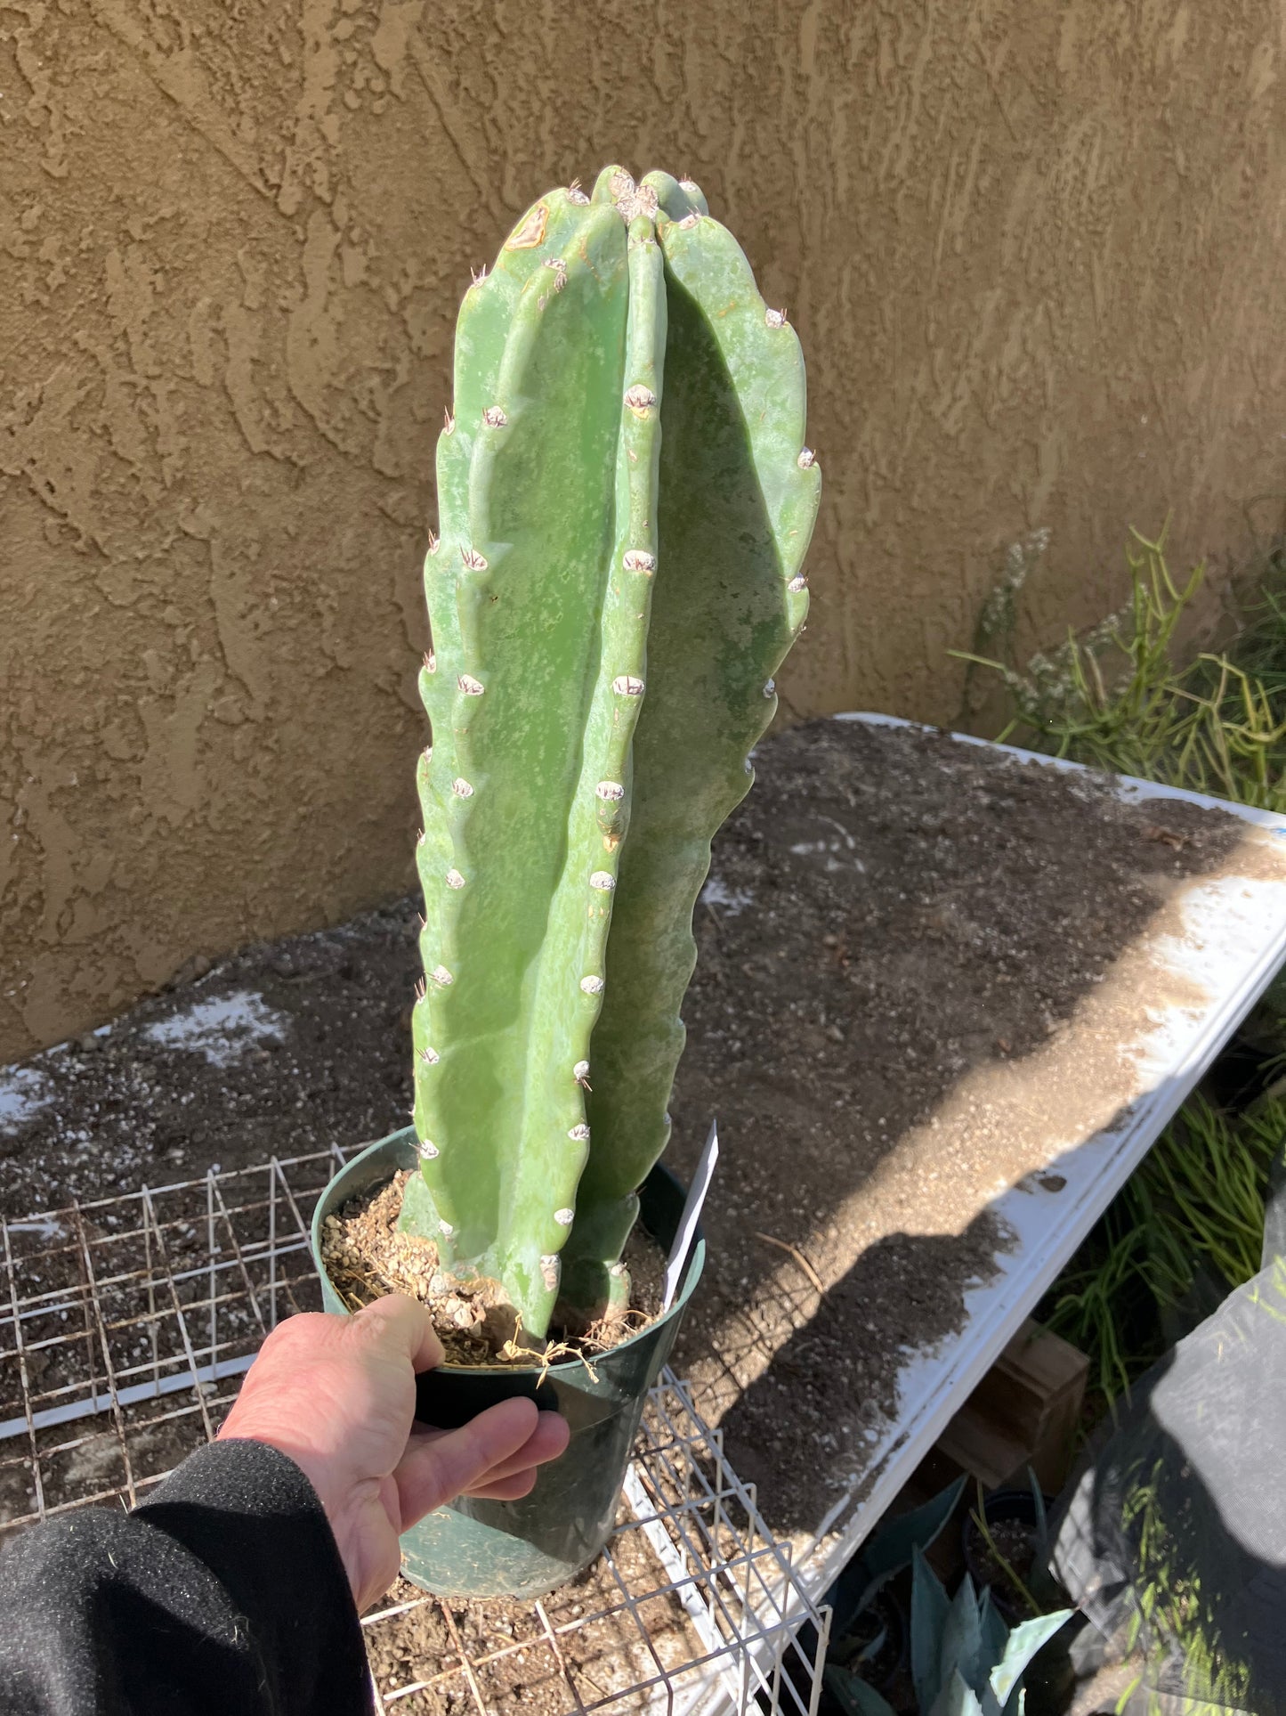
POLYGON ((770 740, 756 776, 694 925, 674 1165, 712 1114, 724 1155, 674 1363, 772 1526, 811 1534, 995 1273, 995 1194, 1056 1191, 1056 1141, 1137 1095, 1121 1045, 1176 997, 1123 951, 1245 868, 1245 824, 847 721, 770 740))

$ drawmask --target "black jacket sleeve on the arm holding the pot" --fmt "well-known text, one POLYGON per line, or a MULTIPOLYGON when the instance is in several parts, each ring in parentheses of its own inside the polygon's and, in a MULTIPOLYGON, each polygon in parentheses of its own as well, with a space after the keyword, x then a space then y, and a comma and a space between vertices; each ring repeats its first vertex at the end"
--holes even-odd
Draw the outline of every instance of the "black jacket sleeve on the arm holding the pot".
POLYGON ((3 1716, 365 1716, 362 1628, 321 1502, 285 1453, 219 1441, 132 1514, 0 1553, 3 1716))

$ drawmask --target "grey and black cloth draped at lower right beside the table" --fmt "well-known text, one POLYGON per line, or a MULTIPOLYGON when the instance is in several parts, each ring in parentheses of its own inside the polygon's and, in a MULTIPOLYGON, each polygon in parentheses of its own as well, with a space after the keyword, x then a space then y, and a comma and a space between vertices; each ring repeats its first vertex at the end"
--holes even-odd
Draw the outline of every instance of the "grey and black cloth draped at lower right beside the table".
POLYGON ((1286 1261, 1139 1383, 1053 1522, 1053 1567, 1137 1654, 1128 1716, 1286 1716, 1286 1261))

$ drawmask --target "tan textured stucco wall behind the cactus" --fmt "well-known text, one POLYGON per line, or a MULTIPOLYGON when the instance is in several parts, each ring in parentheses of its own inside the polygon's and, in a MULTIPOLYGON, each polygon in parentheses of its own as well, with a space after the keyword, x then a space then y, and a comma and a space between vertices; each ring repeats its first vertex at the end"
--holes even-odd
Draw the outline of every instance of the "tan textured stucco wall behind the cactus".
POLYGON ((545 185, 708 190, 809 357, 796 712, 950 717, 1005 544, 1279 491, 1277 0, 3 0, 0 1060, 403 889, 454 305, 545 185))

